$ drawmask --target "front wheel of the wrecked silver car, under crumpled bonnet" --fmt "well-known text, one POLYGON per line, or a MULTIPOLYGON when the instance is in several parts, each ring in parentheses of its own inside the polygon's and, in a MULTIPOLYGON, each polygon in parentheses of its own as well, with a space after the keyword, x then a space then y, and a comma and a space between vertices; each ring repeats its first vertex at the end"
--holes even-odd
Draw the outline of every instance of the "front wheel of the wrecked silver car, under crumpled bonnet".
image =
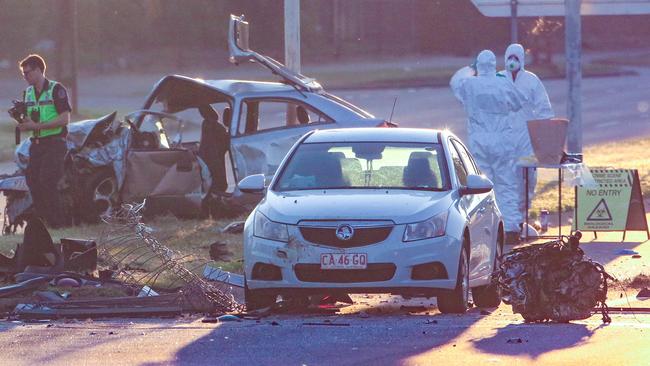
POLYGON ((89 222, 98 222, 117 203, 117 178, 110 169, 92 173, 86 180, 85 197, 82 202, 83 216, 89 222))

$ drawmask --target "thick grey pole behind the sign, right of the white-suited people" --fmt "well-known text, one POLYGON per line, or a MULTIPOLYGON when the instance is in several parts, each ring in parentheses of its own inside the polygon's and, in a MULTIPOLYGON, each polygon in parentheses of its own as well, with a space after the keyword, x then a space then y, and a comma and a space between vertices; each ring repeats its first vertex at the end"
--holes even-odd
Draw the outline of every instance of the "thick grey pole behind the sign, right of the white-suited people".
POLYGON ((569 118, 568 152, 582 152, 582 37, 580 4, 582 0, 565 0, 566 78, 569 84, 567 116, 569 118))

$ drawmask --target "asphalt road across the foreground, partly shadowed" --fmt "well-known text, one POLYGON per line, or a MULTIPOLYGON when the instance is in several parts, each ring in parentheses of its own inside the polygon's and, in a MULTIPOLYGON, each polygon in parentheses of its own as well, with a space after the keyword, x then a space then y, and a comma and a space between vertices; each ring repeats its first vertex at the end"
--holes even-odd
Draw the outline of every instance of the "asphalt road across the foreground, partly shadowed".
POLYGON ((489 315, 479 309, 440 315, 435 307, 409 313, 400 310, 399 298, 375 297, 362 299, 374 305, 344 310, 349 314, 217 324, 196 318, 1 322, 2 363, 584 366, 647 365, 650 359, 650 315, 615 315, 609 325, 598 315, 570 324, 525 324, 505 305, 489 315))

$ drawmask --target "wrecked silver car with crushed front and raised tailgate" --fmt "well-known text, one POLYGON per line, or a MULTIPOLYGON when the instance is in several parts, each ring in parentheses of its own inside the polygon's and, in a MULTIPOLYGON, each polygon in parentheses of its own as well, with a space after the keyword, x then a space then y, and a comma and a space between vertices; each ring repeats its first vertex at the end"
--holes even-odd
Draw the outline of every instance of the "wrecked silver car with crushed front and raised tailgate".
MULTIPOLYGON (((121 202, 144 198, 147 212, 240 214, 261 195, 239 191, 237 182, 252 174, 272 177, 305 133, 391 125, 249 50, 247 26, 231 16, 231 61, 256 62, 281 82, 168 75, 154 85, 142 110, 69 125, 59 188, 76 222, 96 221, 121 202)), ((29 144, 23 141, 16 151, 17 173, 0 180, 7 196, 5 231, 20 224, 31 205, 22 173, 29 144)))

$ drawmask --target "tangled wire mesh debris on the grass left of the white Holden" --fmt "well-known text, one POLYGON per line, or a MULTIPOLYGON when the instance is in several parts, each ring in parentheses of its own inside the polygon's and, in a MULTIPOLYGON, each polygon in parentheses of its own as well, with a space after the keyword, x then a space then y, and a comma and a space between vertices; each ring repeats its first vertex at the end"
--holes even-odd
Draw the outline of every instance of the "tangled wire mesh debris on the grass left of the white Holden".
POLYGON ((194 268, 187 268, 191 261, 179 257, 152 235, 153 230, 141 222, 144 205, 144 202, 124 204, 120 210, 102 217, 108 229, 102 234, 98 248, 100 258, 114 271, 113 278, 157 289, 180 287, 183 297, 197 311, 244 310, 227 284, 207 282, 193 272, 205 263, 200 266, 194 263, 194 268))

